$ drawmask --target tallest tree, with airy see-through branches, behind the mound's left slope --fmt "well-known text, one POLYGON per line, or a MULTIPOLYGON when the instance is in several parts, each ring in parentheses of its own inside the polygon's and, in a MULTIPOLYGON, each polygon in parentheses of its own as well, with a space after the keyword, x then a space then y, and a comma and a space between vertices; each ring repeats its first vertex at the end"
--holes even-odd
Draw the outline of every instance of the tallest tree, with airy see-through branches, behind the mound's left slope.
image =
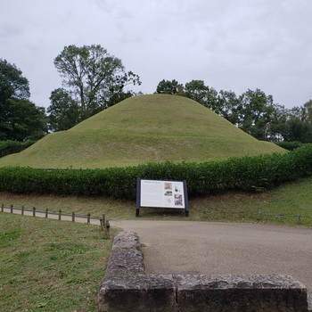
POLYGON ((82 119, 115 103, 111 93, 122 94, 130 84, 141 85, 140 78, 126 71, 121 60, 101 45, 65 46, 54 65, 63 78, 63 86, 80 106, 82 119))

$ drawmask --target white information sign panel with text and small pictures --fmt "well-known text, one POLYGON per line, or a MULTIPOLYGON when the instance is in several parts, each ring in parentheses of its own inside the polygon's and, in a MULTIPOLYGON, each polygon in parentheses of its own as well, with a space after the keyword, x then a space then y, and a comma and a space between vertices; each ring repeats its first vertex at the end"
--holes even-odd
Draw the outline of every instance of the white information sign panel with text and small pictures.
POLYGON ((179 181, 141 180, 141 207, 185 209, 184 184, 179 181))

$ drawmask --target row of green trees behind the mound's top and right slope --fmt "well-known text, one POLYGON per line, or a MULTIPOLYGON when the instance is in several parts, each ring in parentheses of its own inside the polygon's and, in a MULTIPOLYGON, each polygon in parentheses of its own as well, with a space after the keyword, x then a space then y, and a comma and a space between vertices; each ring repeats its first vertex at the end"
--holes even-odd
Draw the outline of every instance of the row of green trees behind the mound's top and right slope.
POLYGON ((163 79, 156 93, 189 97, 259 140, 312 143, 312 100, 288 110, 259 88, 236 95, 233 91, 218 92, 203 80, 192 80, 183 86, 175 79, 163 79))

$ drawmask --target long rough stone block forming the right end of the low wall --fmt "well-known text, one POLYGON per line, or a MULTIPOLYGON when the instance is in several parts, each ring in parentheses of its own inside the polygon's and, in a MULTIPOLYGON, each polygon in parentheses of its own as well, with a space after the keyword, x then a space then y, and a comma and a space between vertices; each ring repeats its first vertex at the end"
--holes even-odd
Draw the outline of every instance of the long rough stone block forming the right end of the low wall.
POLYGON ((175 275, 179 312, 307 312, 307 289, 289 275, 175 275))

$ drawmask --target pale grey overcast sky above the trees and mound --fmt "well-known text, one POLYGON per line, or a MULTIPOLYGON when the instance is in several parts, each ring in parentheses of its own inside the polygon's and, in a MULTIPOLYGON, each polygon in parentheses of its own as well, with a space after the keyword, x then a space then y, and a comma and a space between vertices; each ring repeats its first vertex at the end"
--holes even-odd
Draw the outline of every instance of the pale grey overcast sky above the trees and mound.
MULTIPOLYGON (((152 94, 162 79, 272 94, 286 108, 312 99, 312 0, 0 0, 0 58, 49 106, 62 86, 53 59, 67 45, 102 45, 152 94)), ((130 89, 132 87, 130 86, 130 89)))

